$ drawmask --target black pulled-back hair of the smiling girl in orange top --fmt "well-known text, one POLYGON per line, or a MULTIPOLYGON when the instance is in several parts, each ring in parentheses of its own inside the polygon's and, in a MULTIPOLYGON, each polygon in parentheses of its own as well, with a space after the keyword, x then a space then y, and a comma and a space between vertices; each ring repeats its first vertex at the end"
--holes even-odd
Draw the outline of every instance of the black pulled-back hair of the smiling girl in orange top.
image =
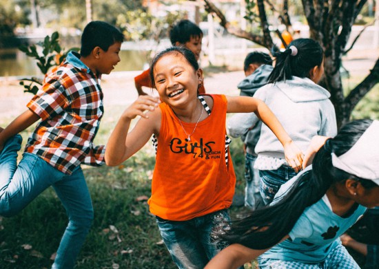
POLYGON ((155 80, 154 80, 154 67, 156 65, 156 62, 162 58, 163 56, 165 56, 166 54, 174 54, 174 55, 183 55, 184 58, 187 60, 187 62, 189 63, 189 65, 191 65, 192 67, 194 67, 194 70, 196 71, 199 67, 198 67, 198 62, 196 60, 196 56, 195 54, 188 50, 187 48, 185 47, 168 47, 167 49, 159 52, 158 54, 156 54, 156 56, 154 56, 154 58, 152 58, 152 62, 150 63, 150 80, 152 82, 152 87, 155 87, 155 80))

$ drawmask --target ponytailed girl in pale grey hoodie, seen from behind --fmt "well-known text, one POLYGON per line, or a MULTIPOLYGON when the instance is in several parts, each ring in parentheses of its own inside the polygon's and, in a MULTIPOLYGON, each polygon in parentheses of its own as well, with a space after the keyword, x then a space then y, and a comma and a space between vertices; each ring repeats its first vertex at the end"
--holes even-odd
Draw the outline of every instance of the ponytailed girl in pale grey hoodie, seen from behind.
MULTIPOLYGON (((268 85, 254 98, 263 100, 274 112, 289 136, 305 153, 314 136, 336 136, 337 124, 329 92, 317 85, 323 68, 323 52, 312 39, 296 39, 284 52, 274 54, 276 65, 268 85)), ((229 119, 230 136, 243 136, 258 118, 255 114, 238 114, 229 119)), ((259 170, 260 195, 265 204, 272 202, 281 184, 298 171, 287 164, 283 147, 267 126, 262 125, 255 152, 254 168, 259 170)))

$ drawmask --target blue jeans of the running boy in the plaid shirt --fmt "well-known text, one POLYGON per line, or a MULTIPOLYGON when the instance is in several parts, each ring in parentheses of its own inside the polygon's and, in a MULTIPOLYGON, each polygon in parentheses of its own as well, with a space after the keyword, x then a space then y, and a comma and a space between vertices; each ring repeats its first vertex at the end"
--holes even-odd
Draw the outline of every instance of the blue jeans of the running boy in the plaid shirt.
POLYGON ((74 268, 94 212, 83 171, 66 175, 37 155, 24 153, 17 166, 21 136, 10 138, 0 152, 0 215, 16 215, 35 197, 52 186, 65 207, 68 226, 59 244, 52 268, 74 268))

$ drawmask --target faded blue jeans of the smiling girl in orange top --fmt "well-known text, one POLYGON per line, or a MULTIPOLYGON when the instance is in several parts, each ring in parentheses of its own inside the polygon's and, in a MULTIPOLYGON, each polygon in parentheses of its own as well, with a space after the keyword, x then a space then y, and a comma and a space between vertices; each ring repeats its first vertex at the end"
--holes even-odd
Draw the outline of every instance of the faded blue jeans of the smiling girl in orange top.
POLYGON ((161 236, 176 266, 183 269, 204 268, 227 244, 217 233, 229 225, 226 210, 217 211, 183 222, 156 217, 161 236))

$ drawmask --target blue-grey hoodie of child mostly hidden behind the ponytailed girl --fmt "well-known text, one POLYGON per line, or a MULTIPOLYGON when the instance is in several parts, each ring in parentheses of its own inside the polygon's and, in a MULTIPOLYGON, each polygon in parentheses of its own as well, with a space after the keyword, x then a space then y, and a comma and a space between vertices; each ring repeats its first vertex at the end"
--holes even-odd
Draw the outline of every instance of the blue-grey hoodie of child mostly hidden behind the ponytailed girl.
MULTIPOLYGON (((238 84, 237 87, 240 89, 240 95, 254 96, 257 89, 267 84, 272 69, 274 69, 272 65, 260 65, 250 76, 247 76, 238 84)), ((246 152, 251 155, 256 155, 254 148, 259 139, 261 125, 262 122, 258 121, 253 129, 241 136, 246 146, 246 152)))

